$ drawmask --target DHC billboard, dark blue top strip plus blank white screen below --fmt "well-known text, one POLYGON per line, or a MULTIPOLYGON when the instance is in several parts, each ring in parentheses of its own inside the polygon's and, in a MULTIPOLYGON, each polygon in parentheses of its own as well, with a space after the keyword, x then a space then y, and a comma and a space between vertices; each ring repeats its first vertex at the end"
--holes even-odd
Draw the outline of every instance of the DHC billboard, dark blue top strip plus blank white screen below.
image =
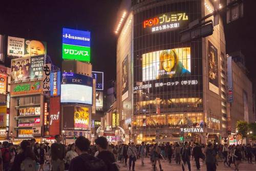
POLYGON ((93 78, 74 73, 62 73, 61 103, 92 105, 93 78))

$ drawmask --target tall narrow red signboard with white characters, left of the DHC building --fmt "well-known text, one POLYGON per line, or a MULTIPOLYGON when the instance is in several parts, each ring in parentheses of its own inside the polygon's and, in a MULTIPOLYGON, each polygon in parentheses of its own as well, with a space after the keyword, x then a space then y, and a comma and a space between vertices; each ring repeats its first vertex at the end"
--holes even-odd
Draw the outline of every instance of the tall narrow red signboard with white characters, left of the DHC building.
POLYGON ((59 119, 60 119, 60 97, 50 97, 49 106, 49 135, 54 136, 59 134, 59 119))

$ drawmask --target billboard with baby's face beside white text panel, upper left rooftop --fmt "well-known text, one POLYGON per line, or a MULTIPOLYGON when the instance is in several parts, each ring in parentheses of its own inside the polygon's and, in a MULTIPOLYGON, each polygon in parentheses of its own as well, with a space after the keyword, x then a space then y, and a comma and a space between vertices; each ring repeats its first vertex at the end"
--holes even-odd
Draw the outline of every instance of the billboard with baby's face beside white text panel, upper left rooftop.
POLYGON ((47 54, 46 42, 8 36, 7 56, 10 58, 47 54))

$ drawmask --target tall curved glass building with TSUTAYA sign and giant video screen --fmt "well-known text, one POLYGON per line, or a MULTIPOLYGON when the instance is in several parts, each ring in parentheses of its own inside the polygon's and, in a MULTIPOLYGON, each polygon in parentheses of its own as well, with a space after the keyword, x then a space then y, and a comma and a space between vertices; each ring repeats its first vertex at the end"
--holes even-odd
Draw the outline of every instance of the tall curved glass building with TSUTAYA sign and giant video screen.
POLYGON ((179 34, 213 10, 214 1, 207 0, 131 1, 122 8, 117 113, 126 136, 131 124, 132 141, 205 143, 227 137, 222 20, 206 38, 182 43, 179 34))

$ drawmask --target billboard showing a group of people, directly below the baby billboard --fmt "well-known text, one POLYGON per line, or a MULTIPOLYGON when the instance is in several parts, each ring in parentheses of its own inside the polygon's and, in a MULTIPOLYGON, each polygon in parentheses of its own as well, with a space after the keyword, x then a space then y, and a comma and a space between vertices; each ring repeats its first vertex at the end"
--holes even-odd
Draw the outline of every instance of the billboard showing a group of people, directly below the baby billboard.
POLYGON ((11 60, 11 81, 42 78, 45 55, 22 57, 11 60))

